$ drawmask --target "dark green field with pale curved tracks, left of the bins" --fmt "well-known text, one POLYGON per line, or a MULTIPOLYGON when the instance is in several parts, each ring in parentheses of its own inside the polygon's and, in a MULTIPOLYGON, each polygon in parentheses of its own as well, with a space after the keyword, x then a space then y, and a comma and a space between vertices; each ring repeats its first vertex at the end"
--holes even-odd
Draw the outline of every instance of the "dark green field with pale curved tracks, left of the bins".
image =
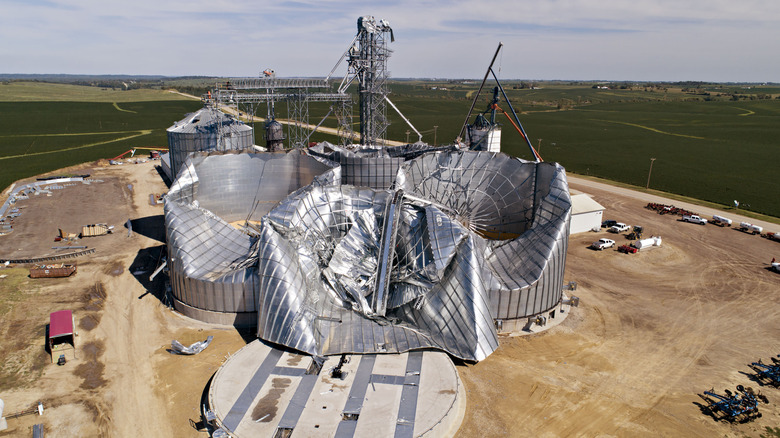
POLYGON ((21 178, 112 158, 133 147, 167 148, 165 130, 201 104, 175 99, 116 106, 0 102, 0 190, 21 178))

